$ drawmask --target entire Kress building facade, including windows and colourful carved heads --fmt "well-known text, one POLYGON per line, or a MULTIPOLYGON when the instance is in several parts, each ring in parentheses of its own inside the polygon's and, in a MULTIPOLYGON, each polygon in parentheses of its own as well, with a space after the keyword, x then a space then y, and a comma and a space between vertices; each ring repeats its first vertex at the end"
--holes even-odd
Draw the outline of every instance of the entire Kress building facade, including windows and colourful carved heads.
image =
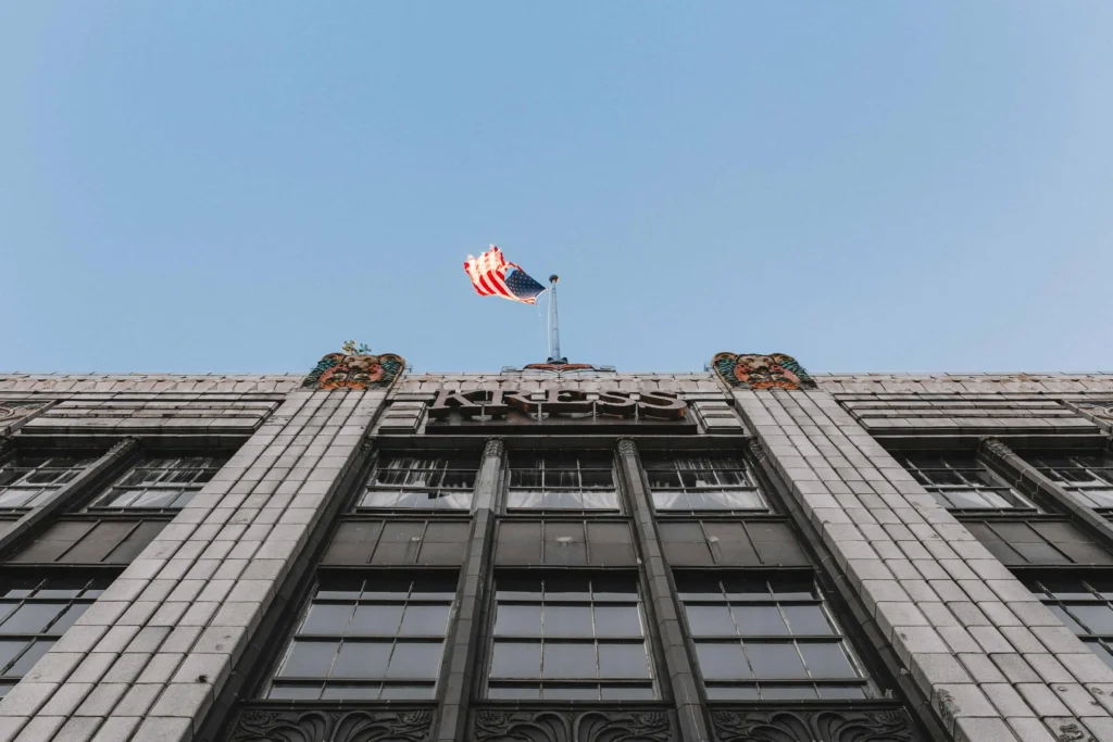
POLYGON ((0 375, 0 742, 1113 741, 1113 374, 0 375))

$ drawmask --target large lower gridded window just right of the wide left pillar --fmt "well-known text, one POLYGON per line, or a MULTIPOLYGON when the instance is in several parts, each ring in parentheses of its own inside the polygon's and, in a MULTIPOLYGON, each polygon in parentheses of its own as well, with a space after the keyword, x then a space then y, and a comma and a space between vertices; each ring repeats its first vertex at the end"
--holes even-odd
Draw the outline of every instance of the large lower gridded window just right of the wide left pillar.
POLYGON ((433 699, 455 593, 455 576, 322 578, 266 698, 433 699))

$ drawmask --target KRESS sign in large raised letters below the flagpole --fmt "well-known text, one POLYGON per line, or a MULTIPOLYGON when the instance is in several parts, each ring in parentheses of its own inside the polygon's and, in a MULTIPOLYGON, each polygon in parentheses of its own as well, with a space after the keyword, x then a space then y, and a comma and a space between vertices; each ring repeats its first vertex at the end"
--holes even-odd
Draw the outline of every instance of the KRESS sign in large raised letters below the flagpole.
POLYGON ((668 392, 548 389, 442 389, 429 407, 430 432, 451 426, 491 428, 522 425, 653 427, 693 425, 688 403, 668 392))

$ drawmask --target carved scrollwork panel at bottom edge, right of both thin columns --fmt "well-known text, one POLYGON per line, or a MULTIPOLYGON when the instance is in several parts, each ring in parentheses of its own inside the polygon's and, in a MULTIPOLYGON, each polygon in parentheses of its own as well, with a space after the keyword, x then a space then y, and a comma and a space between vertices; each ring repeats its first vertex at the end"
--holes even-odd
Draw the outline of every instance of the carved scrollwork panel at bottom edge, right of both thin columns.
POLYGON ((715 711, 719 742, 913 742, 903 711, 715 711))

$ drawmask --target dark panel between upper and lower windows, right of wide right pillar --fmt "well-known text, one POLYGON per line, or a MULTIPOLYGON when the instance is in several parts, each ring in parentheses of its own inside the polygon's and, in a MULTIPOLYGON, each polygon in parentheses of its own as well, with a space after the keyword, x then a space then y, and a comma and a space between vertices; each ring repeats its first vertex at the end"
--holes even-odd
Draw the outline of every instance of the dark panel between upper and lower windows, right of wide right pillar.
POLYGON ((1066 521, 981 521, 963 525, 1006 566, 1113 564, 1113 555, 1066 521))

